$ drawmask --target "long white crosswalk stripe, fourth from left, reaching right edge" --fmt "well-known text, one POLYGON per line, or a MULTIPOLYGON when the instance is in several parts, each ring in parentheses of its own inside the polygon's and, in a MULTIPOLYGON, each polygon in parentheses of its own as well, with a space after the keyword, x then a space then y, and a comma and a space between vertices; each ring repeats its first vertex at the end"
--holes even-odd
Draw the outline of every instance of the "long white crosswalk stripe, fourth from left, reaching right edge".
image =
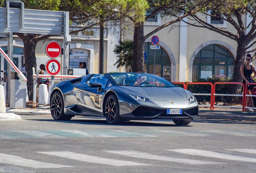
POLYGON ((197 155, 197 156, 212 157, 212 158, 226 159, 226 160, 232 160, 232 161, 244 161, 244 162, 256 163, 255 158, 223 154, 223 153, 217 153, 213 151, 204 151, 204 150, 197 150, 197 149, 167 149, 167 150, 178 152, 178 153, 189 154, 189 155, 197 155))

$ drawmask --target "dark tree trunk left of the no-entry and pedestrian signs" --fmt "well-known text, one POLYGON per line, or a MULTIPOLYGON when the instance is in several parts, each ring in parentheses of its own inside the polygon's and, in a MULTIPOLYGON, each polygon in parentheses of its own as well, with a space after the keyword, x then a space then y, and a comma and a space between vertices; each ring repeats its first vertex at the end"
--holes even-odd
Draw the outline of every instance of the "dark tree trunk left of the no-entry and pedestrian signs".
POLYGON ((25 58, 25 69, 27 72, 27 92, 29 95, 29 100, 33 100, 33 70, 32 67, 37 66, 35 57, 35 47, 37 45, 37 40, 33 39, 33 34, 28 34, 24 37, 24 58, 25 58))

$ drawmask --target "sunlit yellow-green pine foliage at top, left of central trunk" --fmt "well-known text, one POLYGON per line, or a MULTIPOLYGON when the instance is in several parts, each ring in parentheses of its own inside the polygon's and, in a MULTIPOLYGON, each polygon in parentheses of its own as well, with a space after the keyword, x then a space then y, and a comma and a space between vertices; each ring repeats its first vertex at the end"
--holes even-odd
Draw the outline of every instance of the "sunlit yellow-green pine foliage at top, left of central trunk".
POLYGON ((122 21, 124 26, 143 22, 147 8, 147 0, 62 0, 60 5, 60 10, 69 11, 70 20, 78 26, 99 23, 100 19, 111 25, 122 21))

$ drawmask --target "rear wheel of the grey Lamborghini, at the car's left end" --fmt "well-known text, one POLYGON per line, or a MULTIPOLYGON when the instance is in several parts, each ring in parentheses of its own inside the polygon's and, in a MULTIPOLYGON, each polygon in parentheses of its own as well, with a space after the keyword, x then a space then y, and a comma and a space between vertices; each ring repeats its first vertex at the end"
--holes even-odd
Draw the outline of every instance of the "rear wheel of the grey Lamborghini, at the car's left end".
POLYGON ((52 95, 51 101, 50 101, 50 109, 52 118, 54 120, 65 120, 69 121, 72 116, 70 115, 64 115, 64 100, 62 97, 62 94, 57 91, 52 95))

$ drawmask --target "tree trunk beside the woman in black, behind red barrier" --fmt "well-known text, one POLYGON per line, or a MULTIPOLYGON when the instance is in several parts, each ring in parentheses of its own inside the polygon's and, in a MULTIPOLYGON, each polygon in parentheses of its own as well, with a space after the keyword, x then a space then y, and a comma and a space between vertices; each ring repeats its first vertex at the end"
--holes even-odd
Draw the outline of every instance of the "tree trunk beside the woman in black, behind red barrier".
MULTIPOLYGON (((235 58, 235 68, 234 68, 234 75, 233 75, 233 82, 242 82, 242 75, 240 72, 240 66, 244 64, 244 58, 246 54, 246 46, 244 45, 244 41, 237 42, 237 51, 236 51, 236 58, 235 58)), ((241 94, 242 93, 241 84, 232 84, 230 93, 231 94, 241 94)), ((229 103, 239 103, 239 97, 230 97, 229 103)))

